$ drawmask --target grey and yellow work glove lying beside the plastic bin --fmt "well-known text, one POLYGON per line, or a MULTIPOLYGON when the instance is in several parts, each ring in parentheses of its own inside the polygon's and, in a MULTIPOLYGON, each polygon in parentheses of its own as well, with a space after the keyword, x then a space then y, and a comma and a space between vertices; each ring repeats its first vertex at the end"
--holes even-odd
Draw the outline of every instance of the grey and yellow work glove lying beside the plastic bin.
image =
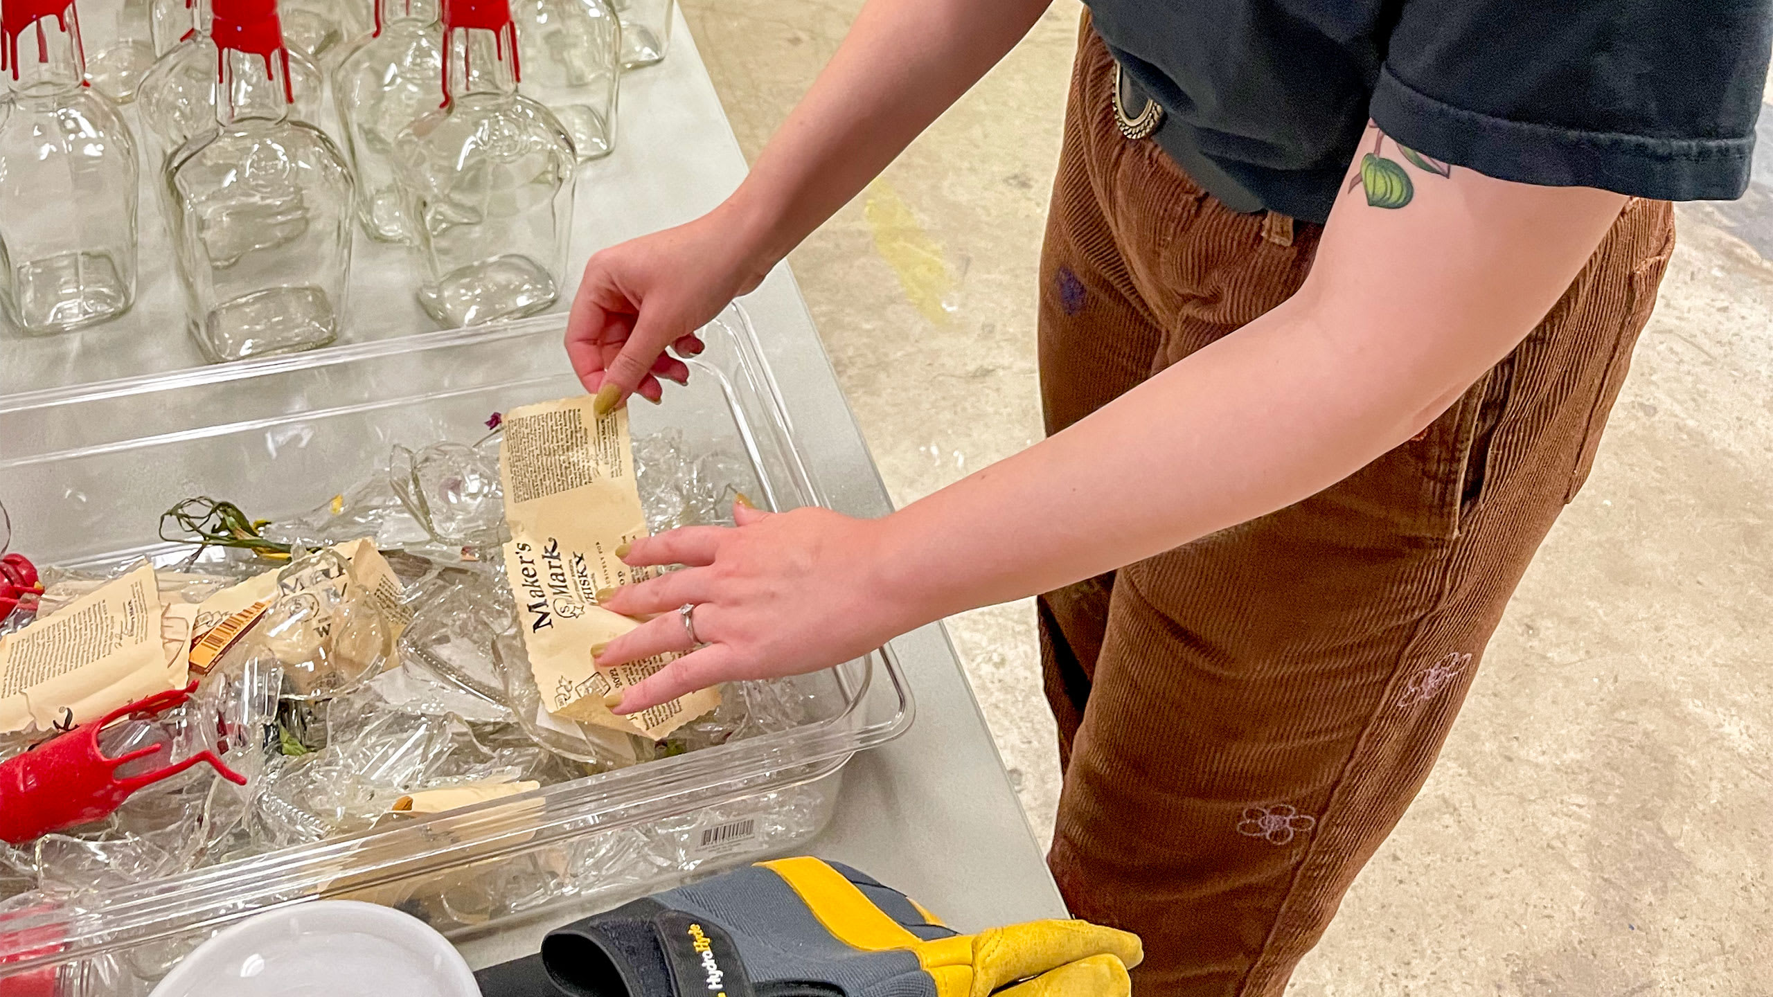
POLYGON ((1126 997, 1136 935, 1030 921, 959 935, 839 864, 780 859, 550 931, 486 997, 1126 997))

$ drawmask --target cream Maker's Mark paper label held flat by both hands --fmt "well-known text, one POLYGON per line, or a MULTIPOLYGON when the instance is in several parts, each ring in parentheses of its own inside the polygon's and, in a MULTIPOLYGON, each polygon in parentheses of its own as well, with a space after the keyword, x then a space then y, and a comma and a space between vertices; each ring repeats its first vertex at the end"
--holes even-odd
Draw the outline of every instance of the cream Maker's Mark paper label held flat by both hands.
POLYGON ((598 605, 598 591, 640 580, 615 557, 647 536, 628 410, 601 419, 590 396, 505 413, 498 474, 505 488, 505 577, 518 601, 523 646, 550 713, 660 740, 720 706, 700 690, 633 717, 603 704, 677 655, 598 669, 590 648, 640 626, 598 605))

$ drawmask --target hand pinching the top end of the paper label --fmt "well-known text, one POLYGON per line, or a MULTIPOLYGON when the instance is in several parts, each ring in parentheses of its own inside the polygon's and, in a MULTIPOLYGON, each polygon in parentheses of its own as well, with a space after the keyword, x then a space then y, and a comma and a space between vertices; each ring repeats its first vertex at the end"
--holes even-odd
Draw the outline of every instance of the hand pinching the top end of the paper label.
POLYGON ((665 353, 695 357, 727 302, 757 289, 773 259, 754 248, 732 202, 700 218, 613 245, 590 257, 566 323, 566 353, 598 412, 640 394, 658 401, 660 378, 684 383, 690 367, 665 353))

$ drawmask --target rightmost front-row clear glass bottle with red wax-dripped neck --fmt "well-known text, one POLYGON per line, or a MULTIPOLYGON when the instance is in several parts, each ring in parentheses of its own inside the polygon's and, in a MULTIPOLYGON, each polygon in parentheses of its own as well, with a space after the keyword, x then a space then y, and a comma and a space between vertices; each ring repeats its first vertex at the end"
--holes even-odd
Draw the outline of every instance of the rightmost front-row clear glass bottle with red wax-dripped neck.
POLYGON ((441 110, 395 142, 418 236, 418 303, 445 326, 539 312, 573 231, 573 138, 518 94, 507 0, 443 2, 441 110))

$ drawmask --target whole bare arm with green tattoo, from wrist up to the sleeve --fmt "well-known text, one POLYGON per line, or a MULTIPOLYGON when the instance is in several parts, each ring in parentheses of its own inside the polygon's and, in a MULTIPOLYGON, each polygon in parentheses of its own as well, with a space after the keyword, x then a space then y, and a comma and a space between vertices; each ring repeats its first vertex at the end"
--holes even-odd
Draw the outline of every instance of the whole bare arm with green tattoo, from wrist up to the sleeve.
POLYGON ((1468 179, 1422 208, 1411 224, 1429 231, 1489 222, 1457 261, 1418 263, 1418 280, 1385 266, 1417 252, 1413 232, 1339 208, 1353 224, 1326 232, 1291 300, 888 516, 881 562, 888 589, 910 593, 901 623, 1057 589, 1248 522, 1418 433, 1532 330, 1622 202, 1601 192, 1500 202, 1496 183, 1468 179))

